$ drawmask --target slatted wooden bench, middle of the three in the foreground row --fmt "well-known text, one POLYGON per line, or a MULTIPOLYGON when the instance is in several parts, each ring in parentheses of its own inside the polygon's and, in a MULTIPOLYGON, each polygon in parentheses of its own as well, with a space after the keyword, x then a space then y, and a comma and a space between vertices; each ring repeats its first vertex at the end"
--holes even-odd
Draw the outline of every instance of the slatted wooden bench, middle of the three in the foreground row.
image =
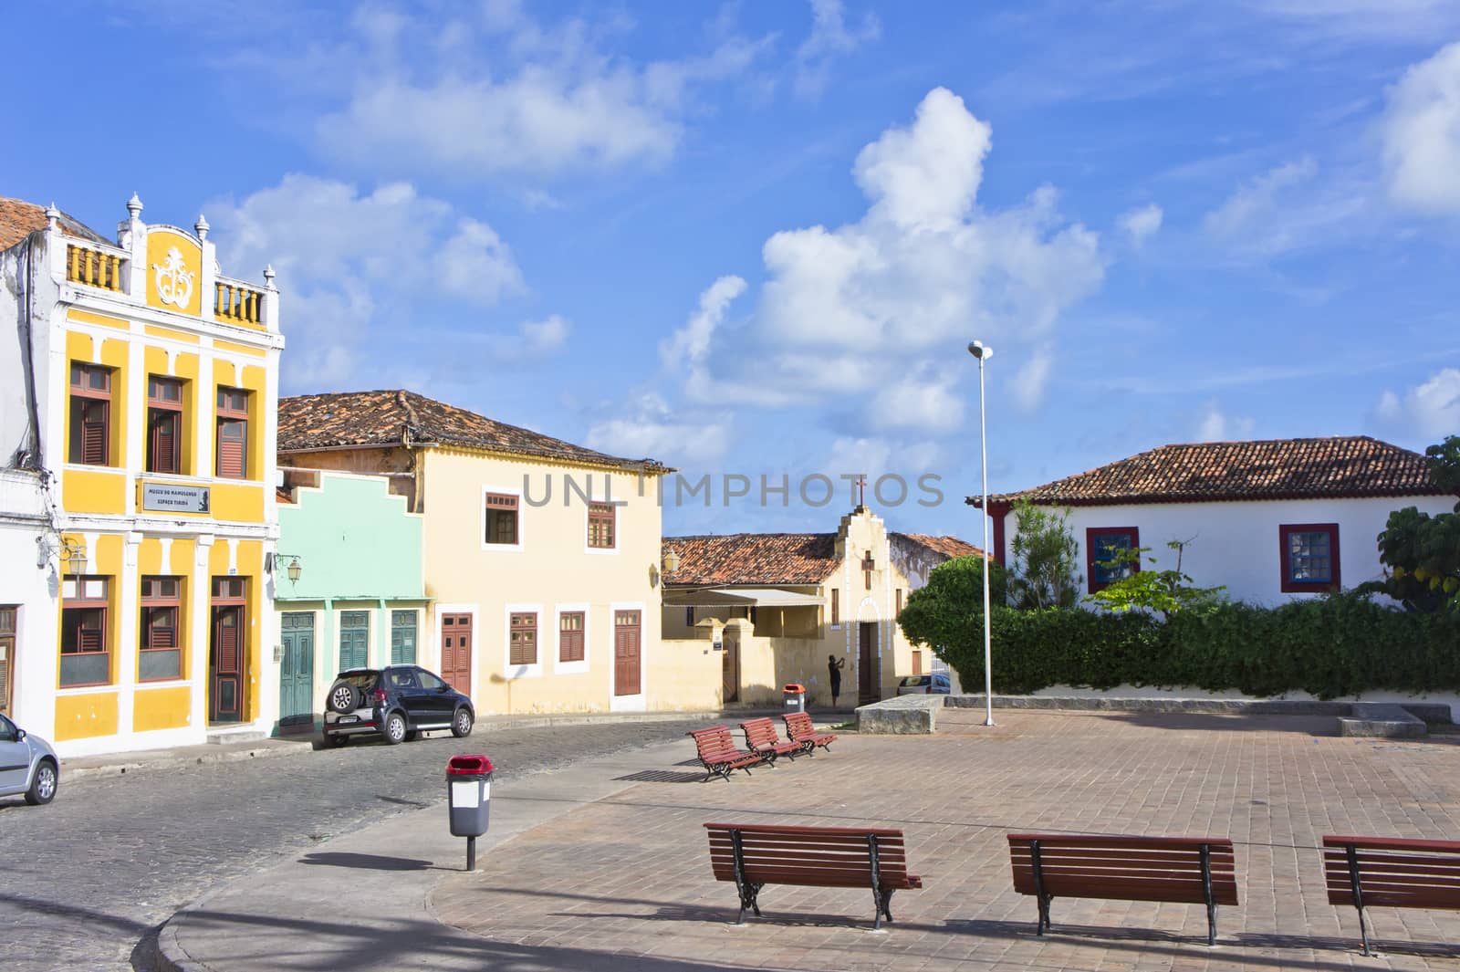
POLYGON ((1013 889, 1040 899, 1041 936, 1050 899, 1107 898, 1206 905, 1206 943, 1216 944, 1216 906, 1237 903, 1231 841, 1010 833, 1009 857, 1013 889))

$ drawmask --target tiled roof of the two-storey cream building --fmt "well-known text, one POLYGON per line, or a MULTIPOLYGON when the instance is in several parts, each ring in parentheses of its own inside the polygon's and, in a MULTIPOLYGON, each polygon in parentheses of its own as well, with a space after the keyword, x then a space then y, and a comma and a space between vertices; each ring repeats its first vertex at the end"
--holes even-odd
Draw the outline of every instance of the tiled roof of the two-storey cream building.
POLYGON ((664 471, 656 460, 628 460, 426 398, 415 391, 342 391, 279 398, 279 451, 438 442, 489 452, 587 466, 664 471))

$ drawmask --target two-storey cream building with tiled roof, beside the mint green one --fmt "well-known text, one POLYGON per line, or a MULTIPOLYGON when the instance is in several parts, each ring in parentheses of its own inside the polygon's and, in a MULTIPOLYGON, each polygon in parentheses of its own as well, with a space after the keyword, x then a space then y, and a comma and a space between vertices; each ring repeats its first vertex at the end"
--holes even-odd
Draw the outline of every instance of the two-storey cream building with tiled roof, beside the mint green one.
POLYGON ((420 514, 434 603, 416 660, 479 717, 657 708, 658 463, 412 391, 282 398, 279 463, 388 477, 420 514))

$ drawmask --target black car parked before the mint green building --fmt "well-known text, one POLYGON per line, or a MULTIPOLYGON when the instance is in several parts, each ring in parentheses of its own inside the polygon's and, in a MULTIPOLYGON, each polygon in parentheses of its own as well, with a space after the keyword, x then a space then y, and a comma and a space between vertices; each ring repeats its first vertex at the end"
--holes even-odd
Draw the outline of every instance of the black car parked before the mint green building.
POLYGON ((476 722, 472 699, 416 666, 342 671, 324 705, 324 741, 330 746, 369 734, 394 746, 434 728, 448 728, 460 738, 470 736, 476 722))

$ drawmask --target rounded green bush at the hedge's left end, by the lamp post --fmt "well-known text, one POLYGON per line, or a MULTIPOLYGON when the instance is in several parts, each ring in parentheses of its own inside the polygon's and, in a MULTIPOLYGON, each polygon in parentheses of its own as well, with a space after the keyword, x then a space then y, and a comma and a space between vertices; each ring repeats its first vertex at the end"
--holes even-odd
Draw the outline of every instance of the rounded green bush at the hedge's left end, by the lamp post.
MULTIPOLYGON (((997 562, 991 562, 990 603, 1000 606, 1007 594, 1007 575, 997 562)), ((974 651, 983 657, 984 559, 953 558, 933 568, 927 584, 908 597, 898 623, 908 641, 927 645, 950 664, 974 651)))

